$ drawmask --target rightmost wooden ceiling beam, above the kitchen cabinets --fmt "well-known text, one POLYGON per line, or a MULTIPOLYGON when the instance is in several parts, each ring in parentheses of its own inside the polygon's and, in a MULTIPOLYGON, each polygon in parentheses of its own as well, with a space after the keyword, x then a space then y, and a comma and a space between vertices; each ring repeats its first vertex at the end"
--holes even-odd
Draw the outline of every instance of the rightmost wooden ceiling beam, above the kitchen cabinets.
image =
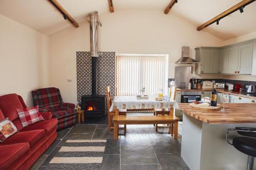
POLYGON ((229 8, 226 11, 222 12, 221 14, 217 15, 216 17, 211 18, 207 22, 203 23, 201 26, 199 26, 197 28, 197 31, 200 31, 200 30, 208 27, 209 25, 211 25, 214 22, 219 23, 220 19, 226 17, 227 15, 229 15, 229 14, 231 14, 231 13, 233 13, 233 12, 239 10, 239 9, 243 9, 246 5, 249 5, 250 3, 253 3, 254 1, 256 1, 256 0, 243 0, 243 1, 241 1, 237 5, 232 6, 231 8, 229 8))

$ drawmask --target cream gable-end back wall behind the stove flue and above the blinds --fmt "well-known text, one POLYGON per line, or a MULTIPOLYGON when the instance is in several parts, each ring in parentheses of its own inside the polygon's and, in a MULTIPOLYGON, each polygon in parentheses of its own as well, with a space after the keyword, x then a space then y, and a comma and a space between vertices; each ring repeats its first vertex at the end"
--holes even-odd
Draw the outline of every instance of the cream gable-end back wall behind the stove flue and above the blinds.
MULTIPOLYGON (((99 51, 119 54, 168 54, 168 77, 174 77, 175 62, 181 57, 181 47, 220 46, 221 40, 196 26, 162 11, 129 10, 99 14, 99 51)), ((70 28, 50 37, 50 86, 60 88, 65 102, 76 102, 76 51, 90 51, 89 23, 70 28), (67 79, 72 79, 68 82, 67 79)), ((84 68, 90 69, 90 68, 84 68)), ((203 75, 217 78, 219 75, 203 75)))

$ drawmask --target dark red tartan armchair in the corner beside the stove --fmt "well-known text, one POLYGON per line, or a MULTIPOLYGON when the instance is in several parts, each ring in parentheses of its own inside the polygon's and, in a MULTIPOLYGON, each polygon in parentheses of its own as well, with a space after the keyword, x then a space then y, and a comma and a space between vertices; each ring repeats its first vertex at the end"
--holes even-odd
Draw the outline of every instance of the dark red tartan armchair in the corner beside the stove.
POLYGON ((75 105, 63 103, 58 88, 41 88, 32 91, 34 106, 39 112, 52 112, 58 119, 57 131, 73 126, 77 123, 75 105))

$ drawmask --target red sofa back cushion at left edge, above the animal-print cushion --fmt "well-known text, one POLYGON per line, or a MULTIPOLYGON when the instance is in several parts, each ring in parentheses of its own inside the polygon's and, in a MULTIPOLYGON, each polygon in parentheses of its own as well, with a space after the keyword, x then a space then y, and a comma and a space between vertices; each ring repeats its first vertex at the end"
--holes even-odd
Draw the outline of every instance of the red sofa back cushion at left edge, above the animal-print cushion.
POLYGON ((0 108, 5 117, 9 117, 12 121, 18 118, 16 109, 23 109, 17 94, 7 94, 0 96, 0 108))

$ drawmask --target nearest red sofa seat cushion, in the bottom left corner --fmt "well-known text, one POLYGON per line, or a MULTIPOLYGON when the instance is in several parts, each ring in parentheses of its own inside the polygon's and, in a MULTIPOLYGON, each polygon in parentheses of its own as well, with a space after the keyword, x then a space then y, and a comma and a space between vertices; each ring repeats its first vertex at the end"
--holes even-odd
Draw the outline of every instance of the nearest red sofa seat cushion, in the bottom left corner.
POLYGON ((29 150, 29 143, 0 145, 0 169, 6 169, 29 150))

